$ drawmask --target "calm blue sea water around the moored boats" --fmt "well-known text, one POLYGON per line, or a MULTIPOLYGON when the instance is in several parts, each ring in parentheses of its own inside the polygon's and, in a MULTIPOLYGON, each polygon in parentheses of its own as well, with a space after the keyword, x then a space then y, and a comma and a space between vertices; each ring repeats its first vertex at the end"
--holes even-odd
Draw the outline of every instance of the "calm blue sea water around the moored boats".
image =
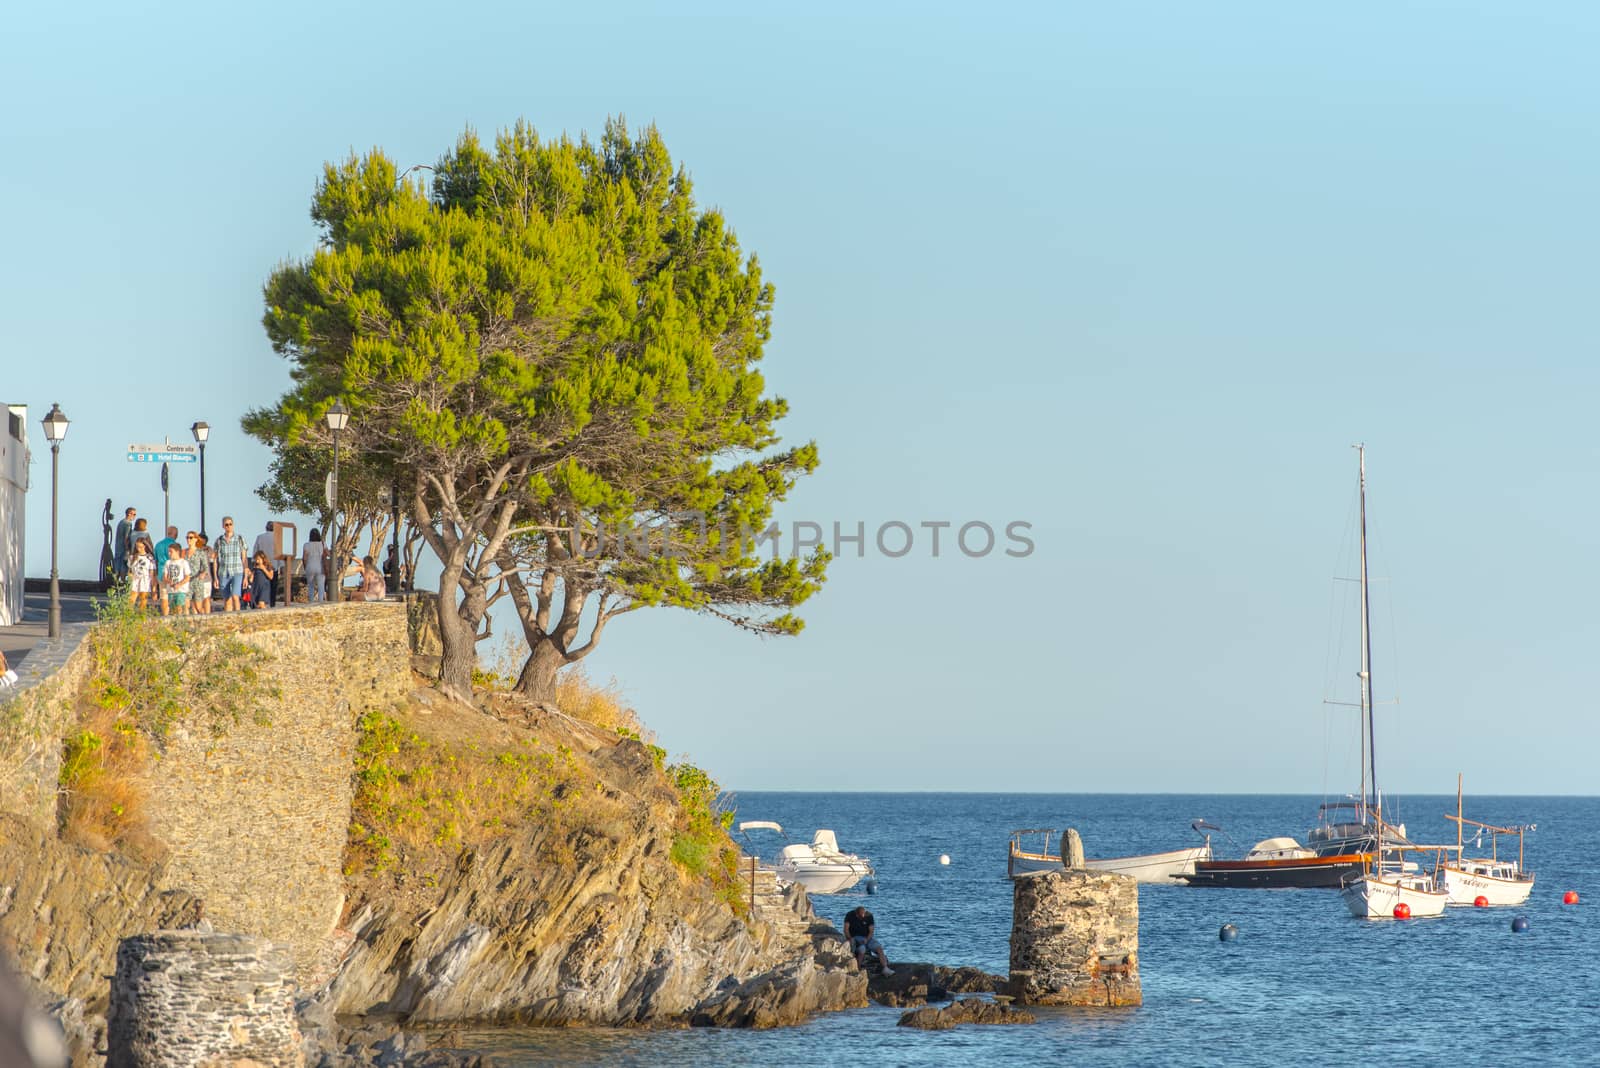
MULTIPOLYGON (((814 899, 840 923, 864 902, 890 959, 1006 970, 1006 838, 1077 827, 1088 855, 1197 843, 1218 855, 1275 835, 1304 839, 1314 796, 742 793, 739 819, 795 838, 830 827, 872 857, 875 895, 814 899), (939 865, 947 854, 950 863, 939 865)), ((1454 841, 1456 798, 1398 798, 1413 841, 1454 841)), ((504 1065, 1461 1065, 1600 1063, 1600 798, 1467 798, 1467 815, 1538 823, 1520 910, 1448 910, 1440 919, 1352 919, 1334 891, 1139 887, 1144 1006, 1037 1010, 1035 1026, 914 1031, 898 1009, 832 1014, 782 1031, 499 1031, 470 1044, 504 1065), (1565 891, 1582 903, 1562 905, 1565 891), (1530 931, 1512 934, 1515 915, 1530 931), (1234 923, 1237 942, 1218 940, 1234 923)))

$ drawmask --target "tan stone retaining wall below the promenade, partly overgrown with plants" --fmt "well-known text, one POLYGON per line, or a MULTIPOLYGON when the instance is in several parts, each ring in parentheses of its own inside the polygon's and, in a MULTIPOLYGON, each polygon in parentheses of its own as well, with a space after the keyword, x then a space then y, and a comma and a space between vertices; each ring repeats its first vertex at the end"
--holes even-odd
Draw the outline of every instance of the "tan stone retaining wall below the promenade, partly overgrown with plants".
MULTIPOLYGON (((338 948, 328 940, 344 905, 357 719, 411 689, 406 608, 283 608, 162 625, 195 632, 190 659, 206 641, 243 643, 258 686, 248 715, 213 729, 206 710, 192 710, 157 747, 146 815, 162 849, 158 889, 195 895, 221 931, 290 946, 310 978, 338 948)), ((24 664, 43 664, 37 654, 24 664)), ((91 643, 75 641, 0 708, 0 811, 54 828, 61 743, 91 673, 91 643)), ((0 871, 0 897, 6 881, 0 871)))

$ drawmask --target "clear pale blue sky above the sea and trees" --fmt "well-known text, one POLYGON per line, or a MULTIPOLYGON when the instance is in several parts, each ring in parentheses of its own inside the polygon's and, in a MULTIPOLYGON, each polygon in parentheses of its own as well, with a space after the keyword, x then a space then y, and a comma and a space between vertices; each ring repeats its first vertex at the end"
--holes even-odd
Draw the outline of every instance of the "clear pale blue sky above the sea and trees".
POLYGON ((8 14, 30 574, 51 401, 66 574, 107 496, 160 513, 123 444, 195 419, 211 524, 259 528, 261 285, 325 160, 626 114, 778 286, 766 373, 822 449, 786 518, 1037 542, 840 560, 797 640, 619 620, 590 670, 669 748, 750 790, 1354 790, 1323 697, 1366 441, 1389 788, 1600 788, 1600 8, 582 6, 8 14))

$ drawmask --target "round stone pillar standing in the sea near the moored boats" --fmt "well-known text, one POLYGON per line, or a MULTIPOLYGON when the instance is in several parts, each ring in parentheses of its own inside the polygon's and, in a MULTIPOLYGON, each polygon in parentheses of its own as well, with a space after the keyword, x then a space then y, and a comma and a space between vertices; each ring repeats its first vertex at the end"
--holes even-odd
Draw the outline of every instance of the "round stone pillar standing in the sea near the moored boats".
POLYGON ((1030 1006, 1138 1006, 1139 884, 1066 870, 1013 881, 1011 978, 1030 1006))

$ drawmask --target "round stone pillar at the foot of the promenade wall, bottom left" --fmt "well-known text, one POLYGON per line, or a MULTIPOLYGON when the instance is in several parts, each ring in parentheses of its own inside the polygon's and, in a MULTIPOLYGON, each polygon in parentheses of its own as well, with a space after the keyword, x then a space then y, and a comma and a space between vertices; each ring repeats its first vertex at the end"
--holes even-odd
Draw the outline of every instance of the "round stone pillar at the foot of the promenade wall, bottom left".
POLYGON ((302 1068, 294 959, 254 935, 123 938, 110 985, 109 1068, 302 1068))

